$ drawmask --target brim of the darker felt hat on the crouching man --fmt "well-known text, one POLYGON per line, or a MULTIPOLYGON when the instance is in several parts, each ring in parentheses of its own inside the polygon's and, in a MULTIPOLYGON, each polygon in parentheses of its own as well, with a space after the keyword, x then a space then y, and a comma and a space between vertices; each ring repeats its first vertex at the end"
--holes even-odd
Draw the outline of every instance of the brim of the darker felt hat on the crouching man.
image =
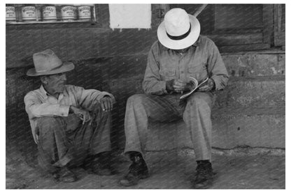
POLYGON ((73 65, 73 63, 71 62, 64 62, 61 67, 56 68, 54 70, 49 70, 49 71, 45 71, 45 72, 36 72, 35 68, 31 68, 27 71, 27 76, 29 77, 36 77, 36 76, 41 76, 41 75, 55 75, 55 74, 59 74, 62 72, 68 72, 71 71, 75 68, 75 65, 73 65))

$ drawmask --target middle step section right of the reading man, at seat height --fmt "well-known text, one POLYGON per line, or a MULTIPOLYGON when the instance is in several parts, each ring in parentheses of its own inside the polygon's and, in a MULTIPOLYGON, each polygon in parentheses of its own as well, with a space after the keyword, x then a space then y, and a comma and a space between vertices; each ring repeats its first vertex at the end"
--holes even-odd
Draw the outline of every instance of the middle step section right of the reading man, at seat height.
POLYGON ((278 107, 285 105, 285 76, 231 77, 215 93, 215 107, 278 107))

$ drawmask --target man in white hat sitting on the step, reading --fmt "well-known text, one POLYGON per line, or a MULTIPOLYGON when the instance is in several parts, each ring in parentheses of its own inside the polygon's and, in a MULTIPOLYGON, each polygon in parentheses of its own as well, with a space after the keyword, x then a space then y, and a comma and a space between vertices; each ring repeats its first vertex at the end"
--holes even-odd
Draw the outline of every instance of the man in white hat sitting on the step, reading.
POLYGON ((129 186, 148 177, 143 160, 146 146, 148 118, 152 121, 175 121, 183 118, 197 160, 194 188, 206 188, 213 183, 211 166, 211 108, 213 91, 225 88, 229 75, 218 48, 210 39, 200 36, 196 17, 181 8, 173 8, 164 16, 157 29, 158 41, 148 54, 143 79, 146 94, 132 95, 127 100, 125 114, 125 155, 132 165, 120 184, 129 186), (183 92, 193 88, 190 80, 203 82, 185 100, 183 92))

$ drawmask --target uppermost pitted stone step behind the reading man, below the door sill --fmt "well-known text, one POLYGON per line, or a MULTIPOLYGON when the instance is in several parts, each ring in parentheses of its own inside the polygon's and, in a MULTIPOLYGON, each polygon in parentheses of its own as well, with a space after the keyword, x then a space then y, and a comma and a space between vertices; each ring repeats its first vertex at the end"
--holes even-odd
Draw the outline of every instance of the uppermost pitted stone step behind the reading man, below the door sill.
MULTIPOLYGON (((131 78, 140 75, 143 78, 146 70, 148 53, 102 57, 95 61, 101 66, 102 76, 108 81, 131 78)), ((222 54, 229 76, 255 77, 285 75, 285 54, 260 54, 258 52, 222 54)), ((89 61, 87 63, 90 63, 89 61)), ((90 64, 91 65, 91 64, 90 64)), ((97 67, 94 67, 97 68, 97 67)), ((87 68, 85 68, 87 69, 87 68)), ((94 73, 90 72, 89 73, 94 73)))

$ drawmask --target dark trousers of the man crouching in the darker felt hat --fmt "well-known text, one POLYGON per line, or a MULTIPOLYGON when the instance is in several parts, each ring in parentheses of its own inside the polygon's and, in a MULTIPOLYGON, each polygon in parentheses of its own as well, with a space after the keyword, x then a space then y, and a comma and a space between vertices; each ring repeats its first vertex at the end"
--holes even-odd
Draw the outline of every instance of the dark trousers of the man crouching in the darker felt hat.
POLYGON ((80 166, 88 155, 111 150, 111 113, 101 107, 90 112, 91 121, 74 114, 38 118, 38 165, 54 173, 59 167, 80 166))

